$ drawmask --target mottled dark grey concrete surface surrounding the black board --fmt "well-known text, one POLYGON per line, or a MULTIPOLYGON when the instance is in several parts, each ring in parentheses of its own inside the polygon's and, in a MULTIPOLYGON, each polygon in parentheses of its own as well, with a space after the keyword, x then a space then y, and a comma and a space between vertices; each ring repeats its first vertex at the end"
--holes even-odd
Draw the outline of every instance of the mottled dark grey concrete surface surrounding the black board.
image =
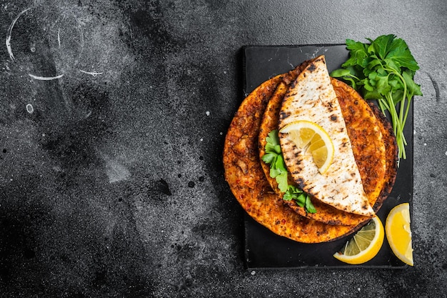
POLYGON ((446 6, 302 2, 1 0, 0 296, 443 297, 446 6), (241 46, 391 33, 424 94, 415 267, 246 271, 221 165, 241 46))

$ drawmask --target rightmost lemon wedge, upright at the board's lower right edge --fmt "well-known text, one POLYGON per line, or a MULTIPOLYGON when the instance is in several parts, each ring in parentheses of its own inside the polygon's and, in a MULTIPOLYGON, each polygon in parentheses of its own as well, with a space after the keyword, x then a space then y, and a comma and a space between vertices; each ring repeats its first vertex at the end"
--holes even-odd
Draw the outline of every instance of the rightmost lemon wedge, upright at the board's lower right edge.
POLYGON ((385 232, 396 257, 405 264, 413 266, 410 222, 410 204, 398 204, 386 217, 385 232))

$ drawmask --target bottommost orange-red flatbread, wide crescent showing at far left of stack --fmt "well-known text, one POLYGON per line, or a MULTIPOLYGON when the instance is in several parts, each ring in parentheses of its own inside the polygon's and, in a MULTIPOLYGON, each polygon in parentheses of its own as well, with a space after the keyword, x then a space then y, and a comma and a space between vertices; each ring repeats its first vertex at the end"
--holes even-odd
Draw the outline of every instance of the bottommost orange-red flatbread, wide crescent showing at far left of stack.
POLYGON ((301 217, 283 204, 267 182, 258 156, 258 132, 263 111, 281 76, 256 88, 239 106, 224 144, 225 179, 241 207, 256 222, 282 237, 303 243, 328 242, 358 227, 334 226, 301 217))

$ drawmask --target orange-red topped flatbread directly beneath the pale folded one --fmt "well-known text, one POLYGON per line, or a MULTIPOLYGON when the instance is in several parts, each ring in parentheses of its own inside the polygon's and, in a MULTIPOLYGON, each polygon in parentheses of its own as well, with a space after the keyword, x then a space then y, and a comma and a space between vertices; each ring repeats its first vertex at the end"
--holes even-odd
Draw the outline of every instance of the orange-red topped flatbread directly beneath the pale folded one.
MULTIPOLYGON (((290 82, 296 79, 296 76, 301 72, 300 69, 304 69, 305 66, 306 64, 304 66, 301 64, 300 68, 286 74, 284 76, 286 79, 278 84, 275 93, 268 101, 259 131, 259 157, 263 157, 265 154, 268 133, 273 129, 278 129, 278 113, 290 82)), ((351 86, 333 78, 331 78, 331 84, 336 91, 345 119, 363 188, 369 204, 377 212, 383 200, 391 192, 397 173, 397 146, 391 124, 374 104, 371 104, 371 106, 367 104, 351 86)), ((276 194, 282 196, 276 179, 270 177, 269 165, 262 161, 261 165, 272 189, 276 194)), ((292 183, 293 179, 289 177, 289 184, 292 183)), ((287 204, 303 217, 326 224, 356 225, 370 219, 362 215, 343 212, 315 198, 311 198, 311 201, 317 209, 316 213, 307 213, 303 207, 299 207, 294 201, 284 201, 284 204, 287 204)))

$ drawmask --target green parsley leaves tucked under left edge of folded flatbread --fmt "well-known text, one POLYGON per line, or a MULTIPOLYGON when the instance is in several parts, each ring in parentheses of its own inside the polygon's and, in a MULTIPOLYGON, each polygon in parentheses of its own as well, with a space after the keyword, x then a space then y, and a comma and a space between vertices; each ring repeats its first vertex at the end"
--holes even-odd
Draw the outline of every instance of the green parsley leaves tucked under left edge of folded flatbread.
POLYGON ((270 165, 270 177, 276 179, 278 189, 284 193, 283 200, 291 201, 293 199, 298 206, 304 207, 306 212, 316 213, 316 209, 313 207, 308 194, 294 185, 288 184, 288 172, 286 164, 284 164, 281 146, 279 145, 278 131, 270 131, 266 137, 266 141, 266 153, 263 155, 262 160, 270 165))

